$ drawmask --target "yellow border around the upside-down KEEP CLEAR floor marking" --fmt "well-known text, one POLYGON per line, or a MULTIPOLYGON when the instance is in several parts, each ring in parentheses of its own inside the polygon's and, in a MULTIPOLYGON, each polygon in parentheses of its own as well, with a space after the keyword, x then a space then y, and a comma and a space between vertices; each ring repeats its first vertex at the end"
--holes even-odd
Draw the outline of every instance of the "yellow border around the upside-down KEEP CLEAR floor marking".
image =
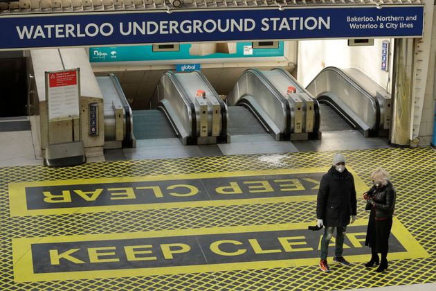
MULTIPOLYGON (((59 215, 72 213, 94 213, 107 211, 134 211, 144 209, 170 209, 180 207, 199 207, 199 206, 226 206, 242 204, 260 204, 275 202, 299 202, 299 201, 316 201, 316 195, 294 195, 287 197, 262 197, 246 198, 233 200, 201 200, 191 202, 163 202, 149 204, 122 204, 122 205, 105 205, 105 206, 86 206, 86 207, 68 207, 68 208, 51 208, 51 209, 27 209, 26 205, 26 187, 42 186, 65 186, 65 185, 84 185, 100 183, 122 183, 122 182, 151 182, 151 181, 170 181, 180 179, 207 179, 223 177, 253 177, 268 175, 286 175, 286 174, 304 174, 304 173, 327 173, 329 168, 296 168, 296 169, 278 169, 278 170, 253 170, 253 171, 235 171, 235 172, 217 172, 217 173, 199 173, 199 174, 182 174, 182 175, 158 175, 158 176, 139 176, 139 177, 119 177, 119 178, 96 178, 96 179, 69 179, 41 182, 20 182, 9 183, 10 215, 59 215)), ((367 186, 360 177, 347 166, 347 170, 354 176, 356 192, 363 193, 367 186)))

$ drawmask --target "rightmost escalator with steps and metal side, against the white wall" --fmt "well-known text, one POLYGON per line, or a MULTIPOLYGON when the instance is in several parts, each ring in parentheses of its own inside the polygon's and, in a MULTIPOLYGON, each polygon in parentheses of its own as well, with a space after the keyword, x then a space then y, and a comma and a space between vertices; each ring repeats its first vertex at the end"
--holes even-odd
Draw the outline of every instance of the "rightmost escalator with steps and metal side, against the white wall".
POLYGON ((390 94, 358 69, 327 67, 306 89, 321 103, 321 131, 358 130, 365 137, 388 135, 390 94))

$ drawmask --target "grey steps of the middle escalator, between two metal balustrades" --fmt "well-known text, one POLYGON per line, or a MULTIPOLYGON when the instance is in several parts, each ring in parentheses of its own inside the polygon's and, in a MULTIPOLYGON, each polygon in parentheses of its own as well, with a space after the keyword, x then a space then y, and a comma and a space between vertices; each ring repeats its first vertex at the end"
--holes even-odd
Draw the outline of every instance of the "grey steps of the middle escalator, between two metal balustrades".
POLYGON ((228 117, 228 134, 230 135, 265 133, 265 128, 244 106, 229 106, 228 117))

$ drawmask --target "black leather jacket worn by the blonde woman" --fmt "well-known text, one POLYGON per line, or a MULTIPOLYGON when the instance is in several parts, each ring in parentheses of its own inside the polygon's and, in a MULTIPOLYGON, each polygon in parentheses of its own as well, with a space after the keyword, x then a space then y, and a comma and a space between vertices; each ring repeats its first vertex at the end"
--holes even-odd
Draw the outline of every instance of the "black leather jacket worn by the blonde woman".
MULTIPOLYGON (((372 193, 376 208, 376 218, 391 218, 394 214, 395 200, 397 199, 397 193, 389 182, 387 186, 376 188, 372 193)), ((372 204, 366 203, 365 210, 370 210, 372 204)))

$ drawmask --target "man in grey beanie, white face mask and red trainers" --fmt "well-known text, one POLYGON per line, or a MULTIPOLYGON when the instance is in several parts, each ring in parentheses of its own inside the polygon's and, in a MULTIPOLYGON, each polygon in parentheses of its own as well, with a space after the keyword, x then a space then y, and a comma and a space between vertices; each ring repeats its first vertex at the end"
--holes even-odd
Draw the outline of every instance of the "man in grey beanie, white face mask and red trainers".
POLYGON ((350 216, 352 223, 356 219, 356 189, 354 178, 345 168, 345 157, 336 154, 333 157, 333 166, 323 175, 318 191, 316 204, 316 217, 318 227, 325 226, 324 236, 321 240, 320 268, 329 272, 327 254, 331 236, 336 228, 336 249, 333 261, 342 265, 349 263, 342 256, 344 234, 349 224, 350 216))

